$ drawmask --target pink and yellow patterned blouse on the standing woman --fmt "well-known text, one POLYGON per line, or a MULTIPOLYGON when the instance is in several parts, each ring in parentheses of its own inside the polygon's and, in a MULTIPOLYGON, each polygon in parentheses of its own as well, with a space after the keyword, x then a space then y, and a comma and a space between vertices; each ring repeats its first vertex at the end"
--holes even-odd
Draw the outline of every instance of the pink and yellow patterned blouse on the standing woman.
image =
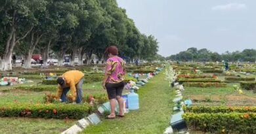
POLYGON ((125 61, 115 56, 108 58, 106 61, 106 75, 110 75, 107 83, 119 83, 124 80, 125 76, 125 61))

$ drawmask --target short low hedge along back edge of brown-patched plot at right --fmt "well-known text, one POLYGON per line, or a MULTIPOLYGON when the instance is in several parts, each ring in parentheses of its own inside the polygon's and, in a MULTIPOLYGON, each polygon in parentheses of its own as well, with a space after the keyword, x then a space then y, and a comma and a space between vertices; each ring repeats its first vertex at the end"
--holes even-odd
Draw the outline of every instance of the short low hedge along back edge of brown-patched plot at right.
POLYGON ((200 88, 207 88, 207 87, 226 87, 226 83, 220 83, 220 82, 185 82, 184 86, 187 87, 200 87, 200 88))

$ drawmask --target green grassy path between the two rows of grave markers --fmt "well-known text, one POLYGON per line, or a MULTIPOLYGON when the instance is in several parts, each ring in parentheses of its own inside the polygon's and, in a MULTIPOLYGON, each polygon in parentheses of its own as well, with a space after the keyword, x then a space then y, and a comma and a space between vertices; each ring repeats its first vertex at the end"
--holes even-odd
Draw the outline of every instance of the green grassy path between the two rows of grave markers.
POLYGON ((174 96, 164 78, 162 71, 140 88, 139 110, 125 114, 125 118, 103 119, 101 124, 90 126, 83 133, 163 133, 169 124, 174 96))

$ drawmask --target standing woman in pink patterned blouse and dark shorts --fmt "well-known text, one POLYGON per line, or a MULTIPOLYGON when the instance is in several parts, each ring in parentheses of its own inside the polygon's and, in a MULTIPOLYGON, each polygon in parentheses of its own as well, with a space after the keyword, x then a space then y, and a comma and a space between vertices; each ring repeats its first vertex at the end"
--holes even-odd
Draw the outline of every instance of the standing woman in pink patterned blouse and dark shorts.
POLYGON ((108 60, 106 61, 106 71, 102 86, 108 93, 111 109, 110 115, 108 115, 107 118, 116 118, 116 100, 119 104, 119 114, 117 116, 123 117, 123 98, 121 95, 123 92, 123 87, 125 86, 125 61, 117 56, 118 49, 116 46, 108 46, 105 54, 108 56, 108 60))

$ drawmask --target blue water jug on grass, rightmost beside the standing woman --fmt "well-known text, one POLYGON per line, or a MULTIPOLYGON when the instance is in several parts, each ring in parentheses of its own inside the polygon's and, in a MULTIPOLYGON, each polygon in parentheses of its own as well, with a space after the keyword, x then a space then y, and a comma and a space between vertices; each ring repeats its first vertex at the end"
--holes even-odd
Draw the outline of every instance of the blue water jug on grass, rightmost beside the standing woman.
POLYGON ((138 110, 139 109, 139 95, 131 89, 131 92, 127 95, 128 109, 138 110))

